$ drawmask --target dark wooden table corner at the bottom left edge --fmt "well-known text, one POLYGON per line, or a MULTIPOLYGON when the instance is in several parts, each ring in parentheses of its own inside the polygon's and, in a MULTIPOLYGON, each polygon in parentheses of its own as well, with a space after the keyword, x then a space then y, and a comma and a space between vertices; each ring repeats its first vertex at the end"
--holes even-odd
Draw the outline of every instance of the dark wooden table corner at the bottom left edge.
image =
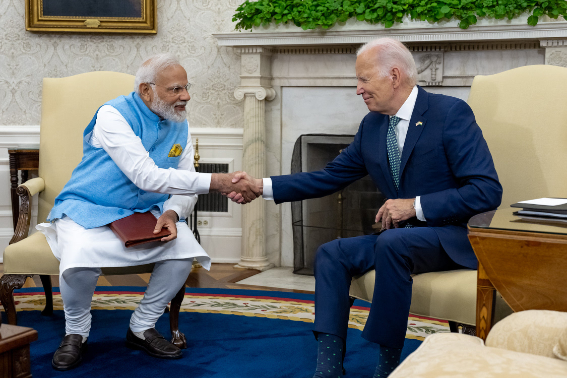
POLYGON ((29 343, 37 340, 33 328, 2 324, 0 326, 0 376, 31 378, 29 343))

